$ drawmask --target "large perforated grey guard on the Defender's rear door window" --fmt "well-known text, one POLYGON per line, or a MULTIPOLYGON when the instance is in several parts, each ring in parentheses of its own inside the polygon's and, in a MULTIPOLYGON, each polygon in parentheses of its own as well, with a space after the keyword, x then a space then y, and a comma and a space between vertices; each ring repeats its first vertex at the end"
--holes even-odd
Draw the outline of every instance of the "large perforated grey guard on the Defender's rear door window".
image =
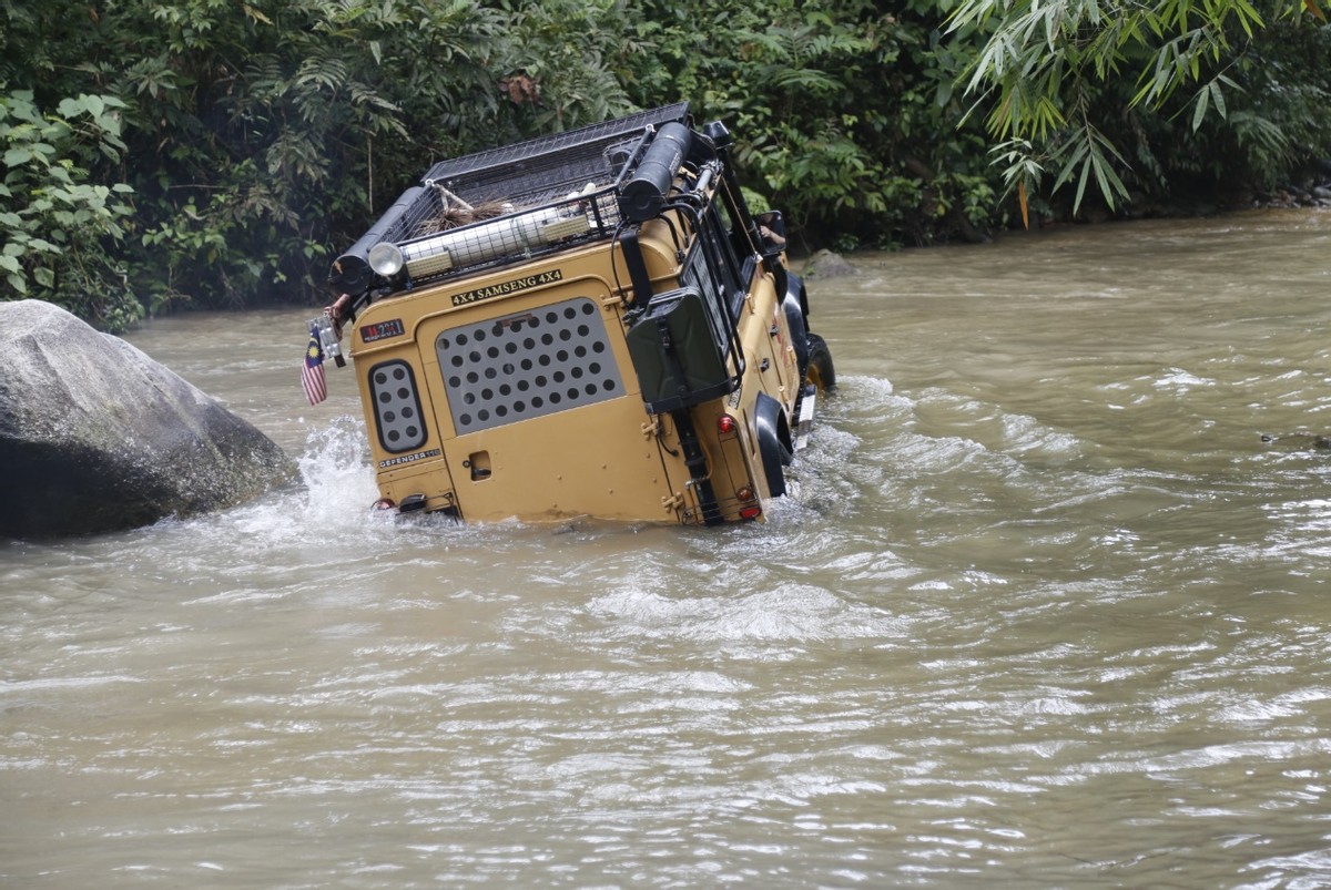
POLYGON ((586 297, 450 329, 435 350, 459 435, 624 394, 606 322, 586 297))

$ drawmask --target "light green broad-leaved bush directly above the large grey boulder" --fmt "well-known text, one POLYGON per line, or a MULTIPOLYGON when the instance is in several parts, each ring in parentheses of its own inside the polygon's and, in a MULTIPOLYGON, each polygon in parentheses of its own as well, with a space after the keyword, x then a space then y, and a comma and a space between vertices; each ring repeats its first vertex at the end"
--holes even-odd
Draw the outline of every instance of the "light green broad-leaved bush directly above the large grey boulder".
POLYGON ((64 306, 108 330, 142 310, 114 259, 132 189, 89 181, 87 165, 118 160, 120 110, 109 96, 65 98, 43 113, 29 90, 0 96, 0 274, 8 299, 64 306))

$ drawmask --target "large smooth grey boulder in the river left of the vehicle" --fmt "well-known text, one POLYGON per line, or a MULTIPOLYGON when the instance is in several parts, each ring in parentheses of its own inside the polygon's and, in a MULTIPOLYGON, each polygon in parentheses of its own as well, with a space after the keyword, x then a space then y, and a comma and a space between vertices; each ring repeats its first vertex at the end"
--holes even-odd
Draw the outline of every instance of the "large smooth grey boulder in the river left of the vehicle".
POLYGON ((272 439, 122 339, 0 303, 0 535, 133 528, 293 479, 272 439))

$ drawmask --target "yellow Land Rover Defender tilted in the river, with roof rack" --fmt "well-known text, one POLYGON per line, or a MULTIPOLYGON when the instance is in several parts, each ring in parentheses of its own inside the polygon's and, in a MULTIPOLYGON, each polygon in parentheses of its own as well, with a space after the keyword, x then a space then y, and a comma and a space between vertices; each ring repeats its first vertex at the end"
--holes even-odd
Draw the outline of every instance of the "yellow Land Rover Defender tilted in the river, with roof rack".
POLYGON ((381 508, 717 524, 835 383, 779 213, 677 104, 434 165, 333 263, 381 508))

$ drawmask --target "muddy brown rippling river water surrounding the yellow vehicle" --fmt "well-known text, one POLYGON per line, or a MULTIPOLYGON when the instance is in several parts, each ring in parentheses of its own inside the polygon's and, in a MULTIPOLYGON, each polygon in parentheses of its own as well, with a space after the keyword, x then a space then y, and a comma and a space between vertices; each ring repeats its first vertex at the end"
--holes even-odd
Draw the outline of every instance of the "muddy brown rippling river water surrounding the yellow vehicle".
POLYGON ((1331 883, 1331 213, 853 259, 721 529, 371 518, 310 310, 132 334, 305 486, 0 544, 0 883, 1331 883))

